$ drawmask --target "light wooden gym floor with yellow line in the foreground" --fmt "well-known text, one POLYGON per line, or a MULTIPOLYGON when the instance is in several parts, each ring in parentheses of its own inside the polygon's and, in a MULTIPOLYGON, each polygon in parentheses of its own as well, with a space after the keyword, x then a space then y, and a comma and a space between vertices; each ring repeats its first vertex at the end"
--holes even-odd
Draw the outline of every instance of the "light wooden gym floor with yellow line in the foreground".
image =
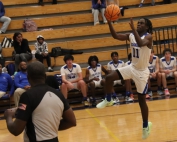
MULTIPOLYGON (((77 126, 59 132, 60 142, 177 142, 177 98, 148 101, 151 135, 141 139, 142 119, 138 103, 105 109, 74 111, 77 126)), ((11 135, 0 120, 0 142, 22 142, 22 134, 11 135)))

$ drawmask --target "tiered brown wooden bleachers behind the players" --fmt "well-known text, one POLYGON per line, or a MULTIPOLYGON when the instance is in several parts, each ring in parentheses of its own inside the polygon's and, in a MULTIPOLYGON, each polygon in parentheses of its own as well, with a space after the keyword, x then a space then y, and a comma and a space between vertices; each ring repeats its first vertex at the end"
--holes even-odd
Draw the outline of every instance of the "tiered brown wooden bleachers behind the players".
MULTIPOLYGON (((120 6, 127 6, 125 15, 120 17, 117 24, 114 24, 116 32, 129 32, 129 18, 134 18, 134 23, 140 17, 149 17, 153 23, 153 27, 158 34, 153 34, 154 41, 166 40, 173 41, 177 38, 176 29, 172 28, 172 34, 158 30, 163 27, 172 27, 177 25, 177 3, 162 4, 163 0, 156 0, 156 6, 145 6, 138 8, 139 0, 120 0, 120 6)), ((127 43, 118 41, 111 37, 107 24, 93 26, 93 16, 91 14, 91 1, 89 0, 58 0, 57 5, 51 5, 49 0, 44 0, 45 6, 38 6, 38 0, 2 0, 5 5, 6 16, 11 17, 12 21, 8 27, 6 34, 0 35, 0 41, 6 36, 12 38, 14 31, 19 31, 23 37, 28 39, 31 50, 34 50, 34 42, 37 35, 43 35, 49 45, 49 51, 53 47, 60 46, 66 49, 82 50, 83 54, 74 55, 74 62, 81 64, 83 68, 83 76, 85 76, 84 68, 87 65, 88 57, 97 55, 101 63, 106 63, 110 58, 112 51, 119 53, 120 59, 126 59, 127 43), (52 31, 36 31, 22 32, 22 24, 25 18, 33 19, 39 30, 45 28, 53 28, 52 31)), ((150 0, 145 3, 150 4, 150 0)), ((101 20, 101 17, 100 17, 101 20)), ((0 24, 1 26, 2 24, 0 24)), ((164 44, 154 48, 155 53, 165 48, 164 44), (161 48, 161 49, 160 49, 161 48)), ((170 43, 170 48, 174 48, 176 52, 176 44, 170 43), (174 48, 175 46, 175 48, 174 48)), ((4 48, 2 55, 7 58, 12 56, 13 48, 4 48)), ((35 60, 34 60, 35 61, 35 60)), ((46 65, 46 62, 44 62, 46 65)), ((55 72, 47 73, 53 75, 58 72, 58 68, 64 64, 63 56, 52 58, 52 66, 55 72)), ((104 64, 106 65, 106 64, 104 64)), ((173 88, 173 87, 172 87, 173 88)), ((72 97, 71 97, 72 98, 72 97)))

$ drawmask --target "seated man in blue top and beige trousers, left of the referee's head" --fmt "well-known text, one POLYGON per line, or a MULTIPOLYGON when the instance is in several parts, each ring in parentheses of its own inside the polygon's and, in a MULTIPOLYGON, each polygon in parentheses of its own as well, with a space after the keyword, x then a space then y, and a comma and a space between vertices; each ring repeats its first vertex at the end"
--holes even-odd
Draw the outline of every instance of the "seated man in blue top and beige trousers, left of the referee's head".
POLYGON ((31 88, 28 78, 27 78, 27 64, 26 62, 21 62, 19 65, 20 71, 15 75, 14 84, 17 88, 14 92, 14 102, 15 106, 18 107, 20 96, 28 89, 31 88))

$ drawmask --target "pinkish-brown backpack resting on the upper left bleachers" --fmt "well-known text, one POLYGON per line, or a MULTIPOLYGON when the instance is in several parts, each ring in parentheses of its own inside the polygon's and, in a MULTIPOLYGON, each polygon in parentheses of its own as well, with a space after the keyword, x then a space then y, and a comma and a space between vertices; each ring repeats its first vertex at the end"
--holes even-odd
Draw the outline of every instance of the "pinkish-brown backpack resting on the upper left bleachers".
POLYGON ((33 32, 37 31, 38 27, 36 23, 32 19, 25 19, 23 23, 23 31, 24 32, 33 32))

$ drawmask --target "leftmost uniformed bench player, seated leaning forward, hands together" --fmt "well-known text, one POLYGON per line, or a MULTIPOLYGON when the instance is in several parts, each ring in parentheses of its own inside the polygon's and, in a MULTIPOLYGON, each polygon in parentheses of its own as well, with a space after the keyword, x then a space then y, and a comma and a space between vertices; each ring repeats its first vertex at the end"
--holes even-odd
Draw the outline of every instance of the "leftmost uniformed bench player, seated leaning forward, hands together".
POLYGON ((62 76, 61 92, 67 99, 68 91, 77 89, 82 92, 84 105, 88 106, 87 101, 87 88, 83 81, 82 70, 80 65, 73 63, 74 57, 72 55, 65 55, 64 62, 66 63, 61 67, 60 73, 62 76))

